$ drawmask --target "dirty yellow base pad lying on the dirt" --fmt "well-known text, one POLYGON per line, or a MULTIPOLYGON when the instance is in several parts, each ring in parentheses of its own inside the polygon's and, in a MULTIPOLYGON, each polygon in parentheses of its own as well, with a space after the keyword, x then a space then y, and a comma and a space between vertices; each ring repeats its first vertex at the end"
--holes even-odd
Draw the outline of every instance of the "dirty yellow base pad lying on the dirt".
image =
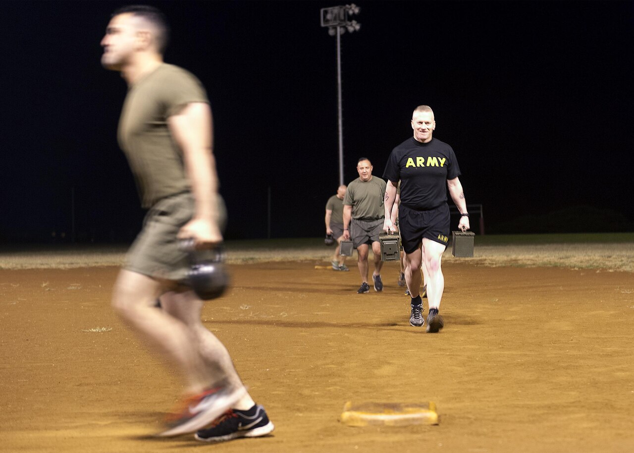
POLYGON ((408 426, 411 424, 438 424, 436 404, 429 403, 361 403, 344 405, 339 417, 347 426, 408 426))

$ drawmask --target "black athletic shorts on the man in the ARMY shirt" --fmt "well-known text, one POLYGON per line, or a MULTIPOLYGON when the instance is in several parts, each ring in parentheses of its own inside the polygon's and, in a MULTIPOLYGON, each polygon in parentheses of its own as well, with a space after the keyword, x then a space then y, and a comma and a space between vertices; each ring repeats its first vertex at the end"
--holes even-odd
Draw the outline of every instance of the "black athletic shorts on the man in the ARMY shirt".
POLYGON ((398 219, 405 253, 415 252, 424 237, 443 246, 449 241, 450 215, 446 203, 429 211, 417 211, 401 204, 398 208, 398 219))

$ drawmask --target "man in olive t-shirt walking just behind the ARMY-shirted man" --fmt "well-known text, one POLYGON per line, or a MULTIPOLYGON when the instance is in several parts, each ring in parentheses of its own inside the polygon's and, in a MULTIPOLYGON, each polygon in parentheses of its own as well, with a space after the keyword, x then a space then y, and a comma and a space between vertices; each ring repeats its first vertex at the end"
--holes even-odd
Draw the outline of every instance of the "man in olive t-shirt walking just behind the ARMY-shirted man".
POLYGON ((352 238, 357 249, 357 265, 361 274, 359 294, 370 292, 368 285, 368 254, 372 245, 374 291, 383 291, 381 280, 381 246, 378 236, 383 232, 385 181, 372 176, 372 163, 362 157, 357 163, 359 177, 348 184, 344 197, 344 239, 352 238))

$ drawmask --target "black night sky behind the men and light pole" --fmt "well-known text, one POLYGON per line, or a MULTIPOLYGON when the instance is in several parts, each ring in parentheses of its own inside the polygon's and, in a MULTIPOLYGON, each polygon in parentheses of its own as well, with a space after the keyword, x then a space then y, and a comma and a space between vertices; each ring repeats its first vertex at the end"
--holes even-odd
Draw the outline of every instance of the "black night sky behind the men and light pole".
MULTIPOLYGON (((141 227, 116 140, 126 83, 100 65, 124 4, 0 2, 0 242, 68 240, 73 206, 79 242, 126 242, 141 227)), ((323 235, 339 164, 335 37, 320 9, 344 3, 146 4, 172 27, 165 61, 209 94, 226 237, 269 235, 268 194, 271 237, 323 235)), ((361 30, 342 36, 346 183, 361 156, 382 176, 427 104, 488 232, 544 232, 545 214, 578 206, 588 215, 550 228, 597 230, 587 207, 632 225, 634 2, 356 4, 361 30)))

